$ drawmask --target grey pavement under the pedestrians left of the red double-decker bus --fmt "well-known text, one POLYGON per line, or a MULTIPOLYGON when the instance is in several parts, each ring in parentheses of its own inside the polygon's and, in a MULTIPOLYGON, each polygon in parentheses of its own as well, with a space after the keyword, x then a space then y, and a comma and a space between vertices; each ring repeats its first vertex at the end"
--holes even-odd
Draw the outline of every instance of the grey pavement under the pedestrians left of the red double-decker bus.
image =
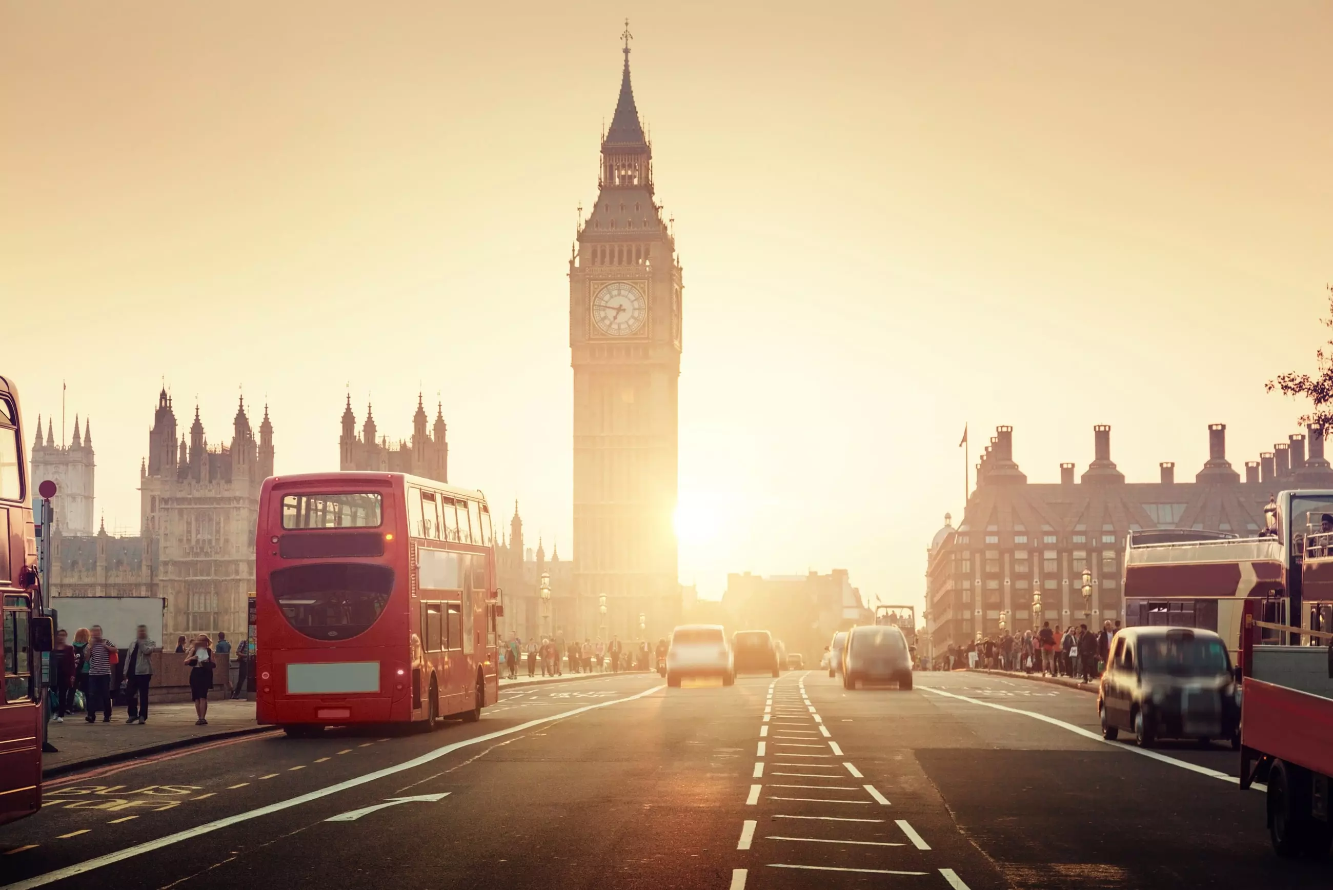
POLYGON ((179 702, 148 706, 148 722, 125 723, 125 709, 116 707, 111 722, 84 721, 84 714, 69 714, 64 723, 52 722, 48 738, 60 749, 59 754, 43 754, 43 775, 59 775, 84 766, 95 766, 116 759, 128 759, 168 747, 192 745, 209 737, 236 735, 247 731, 271 730, 255 722, 255 702, 208 702, 208 726, 195 726, 195 703, 179 702))

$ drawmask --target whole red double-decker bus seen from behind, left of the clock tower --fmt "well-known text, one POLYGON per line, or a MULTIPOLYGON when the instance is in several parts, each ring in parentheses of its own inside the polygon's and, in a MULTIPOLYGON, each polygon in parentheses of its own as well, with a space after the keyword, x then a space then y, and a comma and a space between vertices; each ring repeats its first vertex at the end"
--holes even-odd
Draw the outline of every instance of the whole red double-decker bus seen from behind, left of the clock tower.
POLYGON ((491 512, 404 473, 264 481, 255 545, 259 722, 475 721, 499 698, 491 512))

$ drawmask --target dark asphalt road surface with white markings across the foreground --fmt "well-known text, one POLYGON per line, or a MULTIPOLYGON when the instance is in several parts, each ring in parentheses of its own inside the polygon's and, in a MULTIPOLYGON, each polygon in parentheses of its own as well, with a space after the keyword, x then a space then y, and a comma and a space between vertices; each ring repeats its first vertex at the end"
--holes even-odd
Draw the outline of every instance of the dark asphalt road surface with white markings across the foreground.
POLYGON ((279 733, 59 779, 0 887, 1320 887, 1217 745, 1101 741, 1093 695, 820 671, 501 693, 436 733, 279 733), (1232 777, 1232 778, 1229 778, 1232 777))

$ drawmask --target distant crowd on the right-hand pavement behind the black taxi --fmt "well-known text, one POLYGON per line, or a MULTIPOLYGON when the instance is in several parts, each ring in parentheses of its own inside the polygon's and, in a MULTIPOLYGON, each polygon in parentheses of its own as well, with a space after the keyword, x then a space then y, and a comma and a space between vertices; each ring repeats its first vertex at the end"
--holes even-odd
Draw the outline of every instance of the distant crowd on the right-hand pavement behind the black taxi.
POLYGON ((1093 632, 1086 624, 1061 629, 1049 621, 1037 630, 1013 634, 1008 630, 969 641, 965 646, 953 644, 936 658, 938 670, 965 668, 984 670, 1013 670, 1042 677, 1074 677, 1090 682, 1100 677, 1110 653, 1110 641, 1120 630, 1120 621, 1104 621, 1101 630, 1093 632))

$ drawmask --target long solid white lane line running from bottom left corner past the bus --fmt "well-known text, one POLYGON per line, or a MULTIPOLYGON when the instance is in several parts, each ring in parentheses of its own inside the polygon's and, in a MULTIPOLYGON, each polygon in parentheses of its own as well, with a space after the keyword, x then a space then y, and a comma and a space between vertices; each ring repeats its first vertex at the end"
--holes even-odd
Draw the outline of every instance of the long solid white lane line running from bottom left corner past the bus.
POLYGON ((461 747, 468 747, 471 745, 480 745, 483 742, 489 742, 493 738, 513 735, 515 733, 523 733, 525 730, 532 729, 533 726, 541 726, 543 723, 551 723, 557 719, 567 719, 569 717, 585 714, 591 710, 597 710, 599 707, 608 707, 611 705, 620 705, 624 702, 636 701, 639 698, 643 698, 644 695, 652 695, 653 693, 661 691, 663 689, 665 689, 665 686, 653 686, 652 689, 645 689, 644 691, 636 693, 627 698, 616 698, 613 701, 584 705, 581 707, 575 707, 573 710, 567 710, 560 714, 552 714, 549 717, 539 717, 536 719, 529 719, 525 723, 519 723, 516 726, 499 729, 493 733, 487 733, 484 735, 475 735, 473 738, 465 738, 457 742, 452 742, 449 745, 444 745, 443 747, 437 747, 433 751, 427 751, 420 757, 415 757, 411 761, 404 761, 393 766, 385 766, 384 769, 375 770, 373 773, 367 773, 365 775, 357 775, 344 782, 337 782, 335 785, 329 785, 328 787, 321 787, 315 791, 307 791, 305 794, 299 794, 297 797, 288 798, 285 801, 279 801, 276 803, 269 803, 268 806, 261 806, 255 810, 247 810, 245 813, 237 813, 236 815, 228 815, 221 819, 205 822, 204 825, 199 825, 192 829, 185 829, 184 831, 176 831, 175 834, 168 834, 165 837, 160 837, 153 841, 136 843, 135 846, 124 847, 121 850, 116 850, 115 853, 108 853, 105 855, 95 857, 84 862, 77 862, 75 865, 65 866, 64 869, 56 869, 55 871, 47 871, 45 874, 33 875, 31 878, 16 881, 13 883, 7 883, 3 887, 0 887, 0 890, 29 890, 31 887, 41 887, 48 883, 55 883, 56 881, 64 881, 65 878, 72 878, 79 874, 85 874, 88 871, 100 869, 107 865, 112 865, 115 862, 132 859, 145 853, 153 853, 155 850, 161 850, 163 847, 180 843, 181 841, 189 841, 197 838, 201 834, 209 834, 211 831, 217 831, 220 829, 231 827, 233 825, 240 825, 241 822, 257 819, 271 813, 280 813, 281 810, 287 810, 293 806, 300 806, 301 803, 309 803, 311 801, 317 801, 320 798, 329 797, 331 794, 337 794, 339 791, 345 791, 348 789, 359 787, 361 785, 375 782, 388 775, 396 775, 397 773, 416 769, 435 759, 439 759, 447 754, 452 754, 453 751, 461 747))

